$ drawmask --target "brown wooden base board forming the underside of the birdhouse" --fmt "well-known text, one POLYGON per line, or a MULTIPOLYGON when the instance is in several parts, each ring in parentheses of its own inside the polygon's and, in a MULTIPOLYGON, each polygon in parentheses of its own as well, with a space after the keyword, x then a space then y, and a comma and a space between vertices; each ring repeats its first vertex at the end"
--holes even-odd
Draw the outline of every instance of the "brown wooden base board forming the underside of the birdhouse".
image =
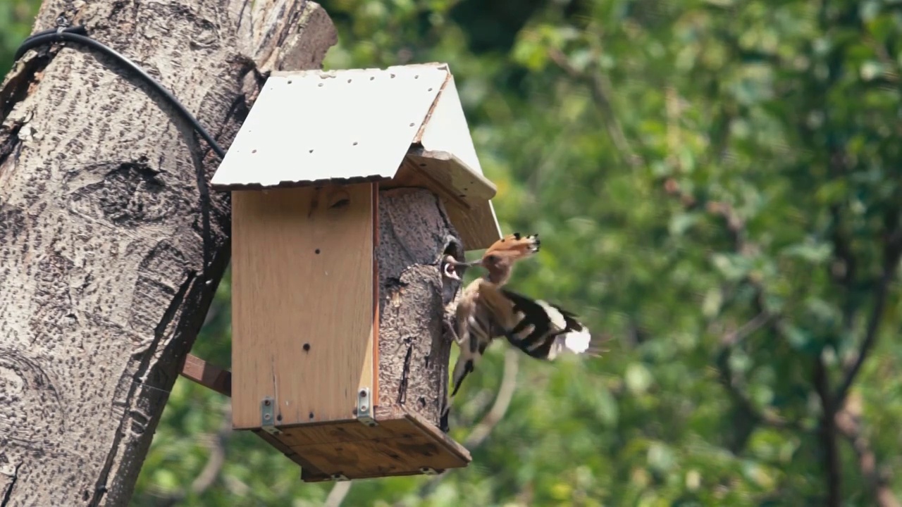
POLYGON ((356 419, 280 428, 271 435, 254 430, 301 466, 307 483, 329 481, 336 475, 368 479, 421 475, 462 468, 472 461, 469 451, 434 425, 404 407, 377 407, 379 425, 356 419))

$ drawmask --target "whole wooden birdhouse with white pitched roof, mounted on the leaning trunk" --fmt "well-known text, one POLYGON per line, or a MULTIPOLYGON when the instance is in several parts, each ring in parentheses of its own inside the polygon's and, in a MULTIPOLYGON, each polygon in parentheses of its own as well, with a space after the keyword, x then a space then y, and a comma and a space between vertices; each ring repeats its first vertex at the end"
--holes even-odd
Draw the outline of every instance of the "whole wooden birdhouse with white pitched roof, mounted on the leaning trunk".
POLYGON ((448 67, 273 73, 212 186, 232 193, 234 428, 305 481, 466 466, 437 429, 437 262, 449 233, 501 234, 448 67))

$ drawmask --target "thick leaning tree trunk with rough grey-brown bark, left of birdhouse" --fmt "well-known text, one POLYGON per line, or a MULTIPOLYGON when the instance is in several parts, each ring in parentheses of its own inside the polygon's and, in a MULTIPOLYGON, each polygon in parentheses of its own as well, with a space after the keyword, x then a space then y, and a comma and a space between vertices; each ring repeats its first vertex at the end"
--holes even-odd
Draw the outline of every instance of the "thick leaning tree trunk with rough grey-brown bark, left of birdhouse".
MULTIPOLYGON (((36 29, 86 25, 227 147, 272 70, 336 42, 319 5, 251 5, 47 0, 36 29)), ((0 118, 0 507, 125 505, 228 262, 228 197, 211 192, 205 243, 196 176, 219 160, 69 43, 25 55, 0 118)))

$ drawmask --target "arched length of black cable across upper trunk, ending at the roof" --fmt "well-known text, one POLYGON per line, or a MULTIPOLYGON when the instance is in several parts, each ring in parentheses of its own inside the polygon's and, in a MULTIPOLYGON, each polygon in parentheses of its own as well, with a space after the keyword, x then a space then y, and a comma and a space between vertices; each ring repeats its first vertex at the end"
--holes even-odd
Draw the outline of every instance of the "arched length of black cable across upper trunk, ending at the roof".
POLYGON ((43 44, 48 44, 51 42, 62 42, 62 41, 70 41, 70 42, 78 42, 79 44, 84 44, 87 47, 100 51, 106 54, 109 57, 112 57, 114 60, 118 60, 125 67, 131 70, 136 76, 142 78, 142 80, 147 83, 151 88, 153 88, 157 93, 159 93, 166 102, 169 102, 172 107, 179 112, 179 115, 182 115, 185 120, 191 124, 194 129, 200 134, 201 137, 204 138, 204 141, 213 148, 213 151, 219 155, 219 158, 222 159, 226 156, 226 151, 223 150, 219 144, 216 144, 216 141, 213 140, 213 136, 211 136, 207 129, 203 127, 198 122, 198 119, 191 115, 188 109, 185 106, 182 106, 179 102, 179 99, 173 97, 170 91, 164 88, 156 79, 152 78, 150 74, 144 72, 144 69, 138 67, 132 60, 129 60, 124 54, 119 51, 115 51, 113 48, 103 44, 102 42, 95 41, 90 37, 87 37, 87 30, 85 30, 84 26, 73 26, 69 28, 64 28, 62 30, 45 30, 43 32, 37 32, 28 39, 23 41, 22 45, 19 46, 19 49, 15 51, 14 60, 19 60, 22 58, 22 55, 25 54, 25 51, 32 50, 38 46, 43 44))

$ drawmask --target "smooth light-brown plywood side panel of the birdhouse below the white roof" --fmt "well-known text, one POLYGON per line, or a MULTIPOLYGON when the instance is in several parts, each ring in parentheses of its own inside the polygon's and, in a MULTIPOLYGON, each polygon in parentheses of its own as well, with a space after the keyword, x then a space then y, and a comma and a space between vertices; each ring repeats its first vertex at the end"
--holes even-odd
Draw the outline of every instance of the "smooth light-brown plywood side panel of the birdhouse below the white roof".
POLYGON ((235 429, 354 417, 373 388, 373 191, 346 187, 232 196, 235 429))

